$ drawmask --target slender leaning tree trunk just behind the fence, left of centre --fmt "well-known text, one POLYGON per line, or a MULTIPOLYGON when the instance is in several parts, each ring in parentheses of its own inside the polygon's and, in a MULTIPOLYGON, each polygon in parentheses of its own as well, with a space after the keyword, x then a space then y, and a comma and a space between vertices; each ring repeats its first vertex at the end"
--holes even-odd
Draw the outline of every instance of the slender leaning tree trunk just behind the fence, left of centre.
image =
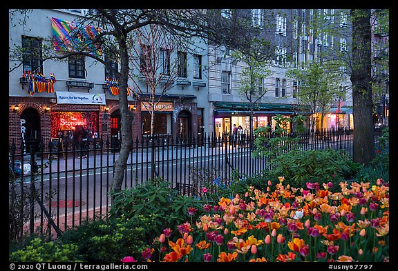
POLYGON ((133 121, 133 114, 129 110, 127 103, 127 81, 129 74, 129 56, 127 54, 127 46, 124 37, 117 39, 120 48, 120 89, 119 89, 119 106, 120 106, 120 133, 122 136, 122 144, 120 147, 120 154, 117 157, 113 167, 112 189, 117 192, 122 189, 124 179, 124 170, 127 167, 127 159, 129 158, 132 135, 131 123, 133 121))

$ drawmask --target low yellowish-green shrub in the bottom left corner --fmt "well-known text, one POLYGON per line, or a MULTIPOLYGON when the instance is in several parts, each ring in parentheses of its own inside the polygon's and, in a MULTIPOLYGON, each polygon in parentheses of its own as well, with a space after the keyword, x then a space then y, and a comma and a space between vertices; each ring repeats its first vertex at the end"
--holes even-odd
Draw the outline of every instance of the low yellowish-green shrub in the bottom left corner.
POLYGON ((15 262, 80 261, 76 244, 62 244, 57 241, 45 242, 38 237, 32 239, 25 248, 12 252, 8 260, 15 262))

